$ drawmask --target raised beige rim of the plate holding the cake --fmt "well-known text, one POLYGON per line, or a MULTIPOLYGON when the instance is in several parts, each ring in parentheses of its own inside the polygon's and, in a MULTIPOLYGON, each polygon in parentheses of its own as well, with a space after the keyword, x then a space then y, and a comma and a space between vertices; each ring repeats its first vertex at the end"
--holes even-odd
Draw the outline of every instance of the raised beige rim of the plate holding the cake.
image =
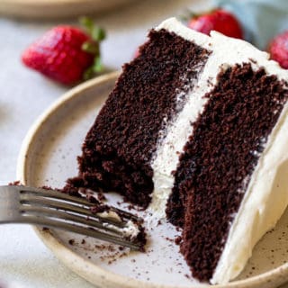
MULTIPOLYGON (((50 117, 53 117, 53 113, 61 109, 65 103, 73 101, 74 98, 79 97, 85 90, 91 89, 96 85, 103 85, 109 81, 116 81, 120 75, 120 71, 115 71, 103 76, 95 77, 92 80, 86 81, 83 84, 76 85, 76 87, 68 90, 65 94, 62 94, 54 103, 40 114, 40 116, 33 122, 31 128, 28 130, 20 149, 20 153, 17 160, 16 176, 22 184, 27 184, 27 159, 30 153, 31 146, 37 139, 37 133, 41 126, 49 121, 50 117)), ((109 270, 106 270, 100 266, 96 266, 84 257, 80 257, 71 249, 62 244, 58 238, 54 237, 49 230, 43 230, 37 227, 33 227, 37 236, 45 244, 46 247, 54 254, 58 260, 67 266, 77 275, 81 276, 91 284, 99 284, 104 287, 118 287, 118 288, 187 288, 188 286, 178 285, 166 285, 166 284, 153 284, 144 282, 138 279, 130 278, 124 275, 118 275, 109 270), (85 268, 85 269, 84 269, 85 268), (91 270, 90 270, 91 269, 91 270), (88 271, 89 270, 89 271, 88 271), (93 272, 92 272, 93 271, 93 272), (95 281, 97 282, 95 283, 95 281)), ((275 287, 275 284, 284 284, 288 277, 288 263, 281 266, 277 266, 261 275, 255 275, 246 279, 233 281, 228 284, 204 284, 203 288, 215 287, 215 288, 244 288, 265 285, 266 287, 275 287)), ((193 284, 190 288, 197 287, 193 284)))

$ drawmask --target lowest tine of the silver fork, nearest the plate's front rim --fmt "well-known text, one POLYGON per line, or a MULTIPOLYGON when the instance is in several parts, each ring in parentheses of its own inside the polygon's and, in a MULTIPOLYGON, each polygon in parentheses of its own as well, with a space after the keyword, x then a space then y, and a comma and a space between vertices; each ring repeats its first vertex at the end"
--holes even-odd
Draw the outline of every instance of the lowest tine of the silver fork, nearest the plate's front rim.
MULTIPOLYGON (((21 220, 19 220, 18 222, 21 222, 21 220)), ((119 238, 119 236, 113 236, 111 234, 104 234, 103 232, 97 231, 96 229, 89 229, 89 228, 85 228, 83 226, 79 226, 75 224, 64 223, 59 220, 45 219, 45 218, 41 218, 37 216, 25 216, 23 217, 23 223, 30 223, 32 225, 44 226, 44 227, 54 228, 54 229, 63 229, 63 230, 77 233, 77 234, 99 238, 101 240, 109 241, 117 245, 130 247, 133 250, 141 249, 141 245, 137 242, 132 243, 128 240, 125 240, 124 238, 119 238)))

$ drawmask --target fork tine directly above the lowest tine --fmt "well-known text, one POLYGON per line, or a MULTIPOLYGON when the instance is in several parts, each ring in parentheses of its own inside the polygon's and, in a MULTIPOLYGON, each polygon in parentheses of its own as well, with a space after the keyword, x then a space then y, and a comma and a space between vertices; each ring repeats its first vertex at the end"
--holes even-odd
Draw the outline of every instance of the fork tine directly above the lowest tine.
MULTIPOLYGON (((107 230, 110 232, 115 232, 119 234, 119 228, 113 226, 112 224, 110 226, 105 225, 103 222, 99 222, 97 220, 89 220, 87 218, 75 215, 75 214, 70 214, 67 211, 57 211, 54 209, 50 209, 50 208, 45 208, 45 207, 39 207, 39 206, 27 206, 24 205, 21 209, 21 211, 23 212, 23 216, 29 215, 29 214, 33 214, 33 215, 43 215, 49 218, 58 218, 59 220, 69 220, 69 221, 73 221, 75 223, 80 223, 80 224, 84 224, 86 226, 92 226, 94 228, 97 229, 103 229, 103 230, 107 230)), ((97 219, 97 218, 96 218, 97 219)))

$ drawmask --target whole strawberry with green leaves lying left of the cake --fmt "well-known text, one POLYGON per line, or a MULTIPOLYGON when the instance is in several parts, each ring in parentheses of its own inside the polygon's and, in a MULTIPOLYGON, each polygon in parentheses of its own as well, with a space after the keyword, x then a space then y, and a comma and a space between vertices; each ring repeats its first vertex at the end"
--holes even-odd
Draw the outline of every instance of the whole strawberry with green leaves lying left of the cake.
POLYGON ((100 72, 99 43, 104 32, 87 18, 82 23, 91 36, 76 27, 57 26, 23 51, 23 63, 65 85, 100 72))

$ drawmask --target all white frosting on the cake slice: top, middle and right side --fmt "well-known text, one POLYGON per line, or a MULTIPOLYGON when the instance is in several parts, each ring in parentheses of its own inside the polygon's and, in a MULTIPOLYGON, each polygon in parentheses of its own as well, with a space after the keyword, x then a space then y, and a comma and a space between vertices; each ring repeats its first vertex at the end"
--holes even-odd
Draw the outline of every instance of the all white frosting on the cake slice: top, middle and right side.
MULTIPOLYGON (((190 91, 184 109, 166 127, 166 138, 158 142, 157 153, 151 162, 154 192, 149 209, 157 217, 164 218, 166 201, 174 184, 171 172, 176 169, 179 154, 193 134, 191 123, 197 120, 208 101, 202 96, 217 84, 220 70, 235 64, 251 63, 254 70, 264 67, 267 75, 276 75, 286 81, 288 72, 275 61, 268 60, 266 52, 246 41, 228 38, 215 31, 209 37, 186 28, 175 18, 161 23, 156 30, 160 29, 175 32, 185 40, 192 40, 202 48, 211 50, 197 85, 190 91)), ((287 206, 288 184, 284 181, 284 175, 288 172, 288 156, 285 157, 285 143, 288 142, 288 133, 285 132, 288 129, 288 119, 285 117, 287 109, 286 105, 258 161, 235 220, 231 223, 228 240, 211 279, 212 284, 227 283, 241 272, 251 256, 252 248, 267 230, 275 226, 287 206)))

